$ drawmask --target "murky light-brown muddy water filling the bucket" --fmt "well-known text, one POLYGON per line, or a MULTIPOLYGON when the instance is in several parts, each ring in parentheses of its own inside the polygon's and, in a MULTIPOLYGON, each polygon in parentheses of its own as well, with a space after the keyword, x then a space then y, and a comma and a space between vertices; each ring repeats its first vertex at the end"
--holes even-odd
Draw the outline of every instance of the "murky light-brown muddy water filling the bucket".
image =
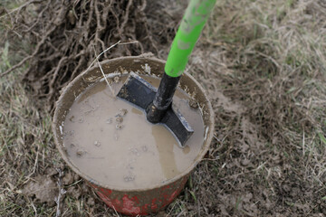
MULTIPOLYGON (((158 79, 144 79, 158 86, 158 79)), ((113 82, 116 93, 124 80, 113 82)), ((185 148, 166 127, 150 124, 142 110, 114 99, 107 84, 99 82, 73 102, 65 118, 67 155, 84 174, 109 186, 135 189, 164 182, 194 162, 204 140, 200 111, 188 106, 187 94, 177 90, 173 103, 195 130, 185 148)))

